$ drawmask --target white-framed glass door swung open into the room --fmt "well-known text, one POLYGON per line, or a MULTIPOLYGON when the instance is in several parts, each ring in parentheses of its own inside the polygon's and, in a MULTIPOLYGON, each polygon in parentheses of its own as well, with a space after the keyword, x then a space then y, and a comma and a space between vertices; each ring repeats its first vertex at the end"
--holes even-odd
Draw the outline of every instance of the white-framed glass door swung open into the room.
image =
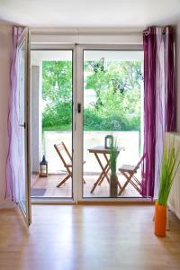
POLYGON ((29 37, 28 30, 23 31, 23 35, 18 44, 18 96, 19 107, 19 129, 20 129, 20 185, 19 185, 19 208, 23 213, 26 224, 31 224, 31 202, 30 202, 30 153, 29 153, 29 37))

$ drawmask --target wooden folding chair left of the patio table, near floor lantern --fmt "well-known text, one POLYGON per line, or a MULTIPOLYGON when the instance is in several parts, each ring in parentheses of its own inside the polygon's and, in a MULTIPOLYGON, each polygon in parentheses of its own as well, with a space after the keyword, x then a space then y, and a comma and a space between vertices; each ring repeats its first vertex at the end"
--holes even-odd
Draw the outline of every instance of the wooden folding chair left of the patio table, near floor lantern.
MULTIPOLYGON (((58 156, 60 157, 63 165, 67 169, 67 176, 57 185, 57 187, 59 187, 62 184, 64 184, 68 180, 68 178, 72 177, 72 156, 70 155, 70 153, 69 153, 69 151, 68 151, 68 149, 63 141, 61 141, 61 143, 59 143, 59 144, 54 144, 54 148, 57 150, 58 156), (64 155, 63 155, 63 152, 64 152, 64 155), (66 157, 64 157, 65 155, 66 155, 66 157)), ((83 181, 85 184, 84 179, 83 179, 83 181)))

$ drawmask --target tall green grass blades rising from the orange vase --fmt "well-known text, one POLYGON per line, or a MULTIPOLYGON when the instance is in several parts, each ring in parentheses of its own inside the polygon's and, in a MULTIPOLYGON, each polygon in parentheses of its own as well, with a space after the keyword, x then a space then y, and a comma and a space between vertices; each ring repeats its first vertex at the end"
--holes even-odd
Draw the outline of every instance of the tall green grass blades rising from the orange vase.
POLYGON ((180 165, 180 144, 175 147, 175 138, 166 138, 161 162, 158 204, 166 205, 171 186, 174 182, 177 169, 180 165))

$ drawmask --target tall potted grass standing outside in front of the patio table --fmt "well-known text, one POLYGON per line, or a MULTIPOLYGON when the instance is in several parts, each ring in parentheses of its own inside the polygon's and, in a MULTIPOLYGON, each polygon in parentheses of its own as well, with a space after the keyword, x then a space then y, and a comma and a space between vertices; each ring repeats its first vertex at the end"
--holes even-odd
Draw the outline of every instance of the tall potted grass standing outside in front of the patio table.
POLYGON ((110 197, 117 197, 118 195, 118 176, 116 175, 116 164, 118 157, 118 143, 117 140, 114 140, 112 148, 110 149, 110 197))

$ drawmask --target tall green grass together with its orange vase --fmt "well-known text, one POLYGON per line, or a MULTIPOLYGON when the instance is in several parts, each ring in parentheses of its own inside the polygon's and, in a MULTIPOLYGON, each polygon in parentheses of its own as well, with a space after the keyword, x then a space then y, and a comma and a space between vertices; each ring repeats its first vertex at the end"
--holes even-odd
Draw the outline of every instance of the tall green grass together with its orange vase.
POLYGON ((171 186, 180 164, 179 144, 175 146, 175 138, 166 137, 159 175, 158 199, 155 204, 155 235, 166 236, 166 204, 171 186))

